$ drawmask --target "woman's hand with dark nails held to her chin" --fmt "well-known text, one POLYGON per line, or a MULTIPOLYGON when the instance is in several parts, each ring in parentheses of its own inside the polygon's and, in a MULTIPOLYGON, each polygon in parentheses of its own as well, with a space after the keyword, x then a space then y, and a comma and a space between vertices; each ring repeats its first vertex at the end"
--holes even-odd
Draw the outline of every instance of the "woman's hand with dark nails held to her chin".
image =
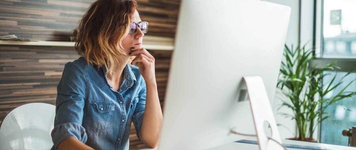
POLYGON ((138 62, 138 68, 140 68, 140 73, 145 79, 146 83, 156 83, 155 76, 155 58, 144 48, 133 47, 130 56, 136 56, 132 60, 131 65, 135 65, 138 62))

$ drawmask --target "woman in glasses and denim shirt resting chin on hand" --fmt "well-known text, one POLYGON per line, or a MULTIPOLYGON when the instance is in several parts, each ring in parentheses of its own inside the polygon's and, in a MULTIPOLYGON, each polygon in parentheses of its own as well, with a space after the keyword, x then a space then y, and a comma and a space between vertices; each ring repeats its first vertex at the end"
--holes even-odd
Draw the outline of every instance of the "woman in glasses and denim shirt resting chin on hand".
POLYGON ((84 14, 75 43, 83 57, 66 64, 57 87, 53 150, 128 150, 132 121, 143 143, 158 145, 155 59, 141 47, 148 24, 136 7, 98 0, 84 14))

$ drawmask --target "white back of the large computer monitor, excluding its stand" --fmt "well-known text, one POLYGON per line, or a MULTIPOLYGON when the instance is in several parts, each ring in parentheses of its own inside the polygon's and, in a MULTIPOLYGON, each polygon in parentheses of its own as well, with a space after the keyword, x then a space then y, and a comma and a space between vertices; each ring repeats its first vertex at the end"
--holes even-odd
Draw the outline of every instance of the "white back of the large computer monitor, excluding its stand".
MULTIPOLYGON (((290 7, 261 0, 182 0, 159 150, 202 150, 256 134, 243 76, 258 75, 270 104, 290 7)), ((271 107, 271 106, 266 106, 271 107)))

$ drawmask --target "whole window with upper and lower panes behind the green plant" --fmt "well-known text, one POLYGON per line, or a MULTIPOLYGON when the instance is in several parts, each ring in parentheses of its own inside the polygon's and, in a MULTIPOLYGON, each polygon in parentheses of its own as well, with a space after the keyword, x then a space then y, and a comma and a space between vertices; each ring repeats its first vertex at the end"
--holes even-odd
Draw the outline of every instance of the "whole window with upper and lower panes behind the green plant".
MULTIPOLYGON (((340 80, 347 71, 356 68, 356 0, 315 0, 315 46, 317 59, 311 66, 325 66, 337 61, 342 71, 338 71, 340 80)), ((335 72, 325 72, 335 74, 335 72)), ((330 83, 332 75, 323 78, 323 84, 330 83)), ((344 83, 333 91, 340 91, 356 78, 356 73, 344 79, 344 83)), ((356 82, 352 83, 346 91, 356 91, 356 82)), ((326 96, 333 96, 333 93, 326 96)), ((356 126, 356 98, 343 99, 337 104, 344 105, 352 111, 345 110, 340 105, 329 106, 326 112, 331 117, 319 126, 320 143, 347 146, 348 137, 341 133, 343 129, 356 126)))

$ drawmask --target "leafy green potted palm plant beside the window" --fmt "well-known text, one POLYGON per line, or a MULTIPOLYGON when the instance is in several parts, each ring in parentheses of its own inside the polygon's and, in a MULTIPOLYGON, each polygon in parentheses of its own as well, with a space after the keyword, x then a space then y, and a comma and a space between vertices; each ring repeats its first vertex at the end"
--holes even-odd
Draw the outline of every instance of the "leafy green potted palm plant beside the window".
MULTIPOLYGON (((323 84, 322 79, 325 76, 331 76, 330 73, 324 71, 335 71, 340 69, 334 66, 336 62, 330 63, 322 68, 316 69, 315 66, 309 66, 309 62, 315 58, 314 48, 305 49, 305 45, 297 48, 289 49, 284 46, 284 59, 282 60, 281 69, 277 88, 281 89, 282 94, 286 96, 286 100, 282 100, 281 107, 288 107, 292 110, 292 114, 280 113, 285 117, 290 117, 297 123, 297 136, 291 139, 313 141, 313 133, 317 125, 330 117, 325 111, 330 105, 339 105, 336 102, 344 98, 350 98, 356 92, 345 91, 349 85, 354 82, 352 80, 340 93, 336 93, 330 98, 324 96, 343 83, 343 79, 355 70, 350 71, 341 80, 336 79, 336 74, 330 83, 323 84), (318 96, 319 99, 315 99, 318 96)), ((343 106, 347 109, 345 106, 343 106)), ((347 109, 348 110, 348 109, 347 109)))

